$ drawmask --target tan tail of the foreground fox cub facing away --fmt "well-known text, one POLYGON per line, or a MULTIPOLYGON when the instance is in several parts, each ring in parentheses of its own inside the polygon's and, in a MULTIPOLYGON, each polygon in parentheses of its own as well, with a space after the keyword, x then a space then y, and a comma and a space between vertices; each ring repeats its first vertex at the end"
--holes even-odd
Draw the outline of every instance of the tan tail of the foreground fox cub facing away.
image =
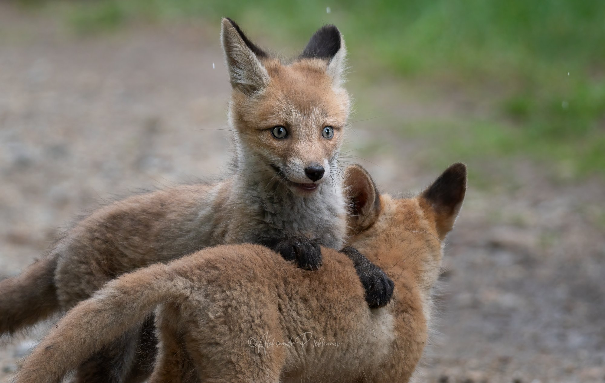
POLYGON ((157 264, 109 282, 51 329, 25 358, 16 382, 60 382, 94 352, 142 324, 155 306, 178 300, 180 280, 169 266, 157 264))

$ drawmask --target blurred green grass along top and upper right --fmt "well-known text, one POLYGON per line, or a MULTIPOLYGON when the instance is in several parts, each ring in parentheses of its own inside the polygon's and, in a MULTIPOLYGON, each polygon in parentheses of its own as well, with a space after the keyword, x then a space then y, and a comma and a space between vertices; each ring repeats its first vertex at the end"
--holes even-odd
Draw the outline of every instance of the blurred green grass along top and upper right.
MULTIPOLYGON (((30 0, 32 1, 32 0, 30 0)), ((531 156, 566 175, 605 173, 605 1, 97 0, 65 3, 68 24, 98 33, 129 21, 230 16, 253 35, 302 47, 333 23, 355 77, 455 79, 492 100, 481 116, 397 124, 436 158, 531 156), (327 7, 330 12, 327 12, 327 7)))

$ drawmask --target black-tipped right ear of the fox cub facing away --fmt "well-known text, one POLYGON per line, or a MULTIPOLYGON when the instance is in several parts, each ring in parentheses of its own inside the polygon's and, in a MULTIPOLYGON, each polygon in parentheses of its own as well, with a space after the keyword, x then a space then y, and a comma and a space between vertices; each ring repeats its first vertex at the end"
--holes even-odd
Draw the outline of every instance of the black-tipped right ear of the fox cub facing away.
POLYGON ((466 193, 466 166, 457 163, 448 167, 422 192, 420 198, 427 201, 435 212, 437 235, 443 240, 454 227, 466 193))

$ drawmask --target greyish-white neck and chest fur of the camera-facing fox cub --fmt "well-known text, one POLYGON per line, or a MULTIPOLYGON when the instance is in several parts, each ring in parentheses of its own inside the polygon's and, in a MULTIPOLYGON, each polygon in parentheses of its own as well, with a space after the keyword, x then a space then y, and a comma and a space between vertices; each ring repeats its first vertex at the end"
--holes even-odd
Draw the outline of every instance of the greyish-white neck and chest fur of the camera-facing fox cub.
POLYGON ((238 153, 235 175, 220 187, 231 189, 223 209, 228 214, 223 217, 228 222, 223 243, 307 236, 330 248, 342 247, 347 222, 336 157, 330 161, 329 179, 313 195, 302 197, 292 193, 270 166, 259 168, 255 156, 238 153))

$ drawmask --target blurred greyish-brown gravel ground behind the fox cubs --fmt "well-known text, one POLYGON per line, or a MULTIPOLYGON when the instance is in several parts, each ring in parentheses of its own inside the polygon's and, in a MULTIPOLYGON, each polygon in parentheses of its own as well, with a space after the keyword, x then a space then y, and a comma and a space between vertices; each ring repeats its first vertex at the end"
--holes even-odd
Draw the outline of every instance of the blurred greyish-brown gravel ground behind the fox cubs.
MULTIPOLYGON (((216 25, 197 24, 82 38, 0 4, 0 275, 17 274, 98 202, 223 172, 229 83, 216 25)), ((451 101, 423 105, 391 88, 381 107, 393 118, 456 113, 451 101)), ((427 143, 373 120, 352 128, 352 149, 388 143, 359 159, 385 191, 438 174, 417 161, 427 143)), ((481 166, 489 161, 499 159, 481 166)), ((604 182, 554 182, 524 159, 509 169, 515 187, 470 185, 418 380, 603 382, 604 182)), ((0 346, 0 382, 36 336, 0 346)))

